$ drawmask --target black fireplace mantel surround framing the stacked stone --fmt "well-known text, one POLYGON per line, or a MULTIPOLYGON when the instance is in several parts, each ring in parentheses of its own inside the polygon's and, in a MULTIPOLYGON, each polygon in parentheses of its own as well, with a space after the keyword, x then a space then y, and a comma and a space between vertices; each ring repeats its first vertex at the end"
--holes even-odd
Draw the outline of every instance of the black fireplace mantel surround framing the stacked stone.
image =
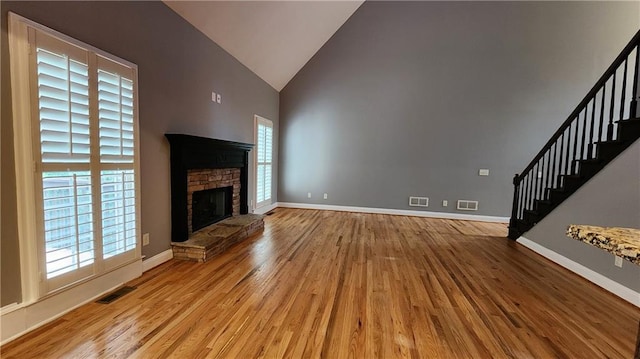
POLYGON ((171 241, 189 237, 187 172, 192 169, 240 168, 240 214, 249 213, 247 186, 252 144, 182 134, 165 134, 171 146, 171 241))

